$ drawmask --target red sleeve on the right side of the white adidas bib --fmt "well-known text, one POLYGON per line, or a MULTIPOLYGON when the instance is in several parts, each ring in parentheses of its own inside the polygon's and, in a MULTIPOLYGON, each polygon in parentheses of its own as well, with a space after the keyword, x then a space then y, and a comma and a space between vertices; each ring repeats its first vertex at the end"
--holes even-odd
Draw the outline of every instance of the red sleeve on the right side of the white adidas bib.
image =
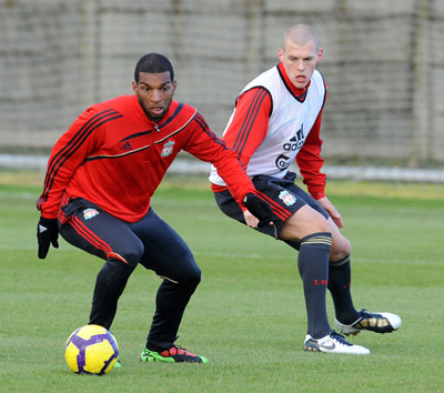
POLYGON ((324 160, 321 157, 321 119, 320 111, 305 143, 296 155, 296 163, 303 178, 303 183, 314 199, 325 196, 325 174, 321 172, 324 160))

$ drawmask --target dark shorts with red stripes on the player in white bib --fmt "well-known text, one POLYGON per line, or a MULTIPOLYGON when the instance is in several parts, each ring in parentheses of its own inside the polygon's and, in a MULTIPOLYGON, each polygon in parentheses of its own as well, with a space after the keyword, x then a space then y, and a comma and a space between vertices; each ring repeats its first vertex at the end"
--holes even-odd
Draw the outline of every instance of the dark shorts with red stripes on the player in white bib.
MULTIPOLYGON (((258 231, 283 240, 280 239, 280 233, 285 221, 306 204, 320 212, 325 219, 329 218, 329 213, 316 200, 294 184, 296 174, 293 172, 289 172, 283 179, 271 178, 264 174, 253 177, 252 181, 260 196, 266 201, 273 210, 274 223, 274 225, 256 228, 258 231)), ((223 213, 246 224, 241 208, 228 190, 215 192, 214 198, 223 213)), ((285 242, 299 249, 299 242, 285 242)))

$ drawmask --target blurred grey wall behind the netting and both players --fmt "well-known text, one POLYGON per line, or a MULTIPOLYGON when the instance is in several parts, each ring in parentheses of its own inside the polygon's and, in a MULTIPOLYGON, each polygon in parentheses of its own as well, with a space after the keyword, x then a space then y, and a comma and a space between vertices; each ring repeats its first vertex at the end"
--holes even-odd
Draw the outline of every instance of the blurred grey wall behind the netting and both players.
POLYGON ((238 92, 278 62, 284 30, 306 22, 324 48, 324 157, 444 162, 443 1, 0 4, 0 150, 51 145, 90 103, 132 93, 135 62, 148 52, 172 60, 176 99, 195 105, 221 134, 238 92))

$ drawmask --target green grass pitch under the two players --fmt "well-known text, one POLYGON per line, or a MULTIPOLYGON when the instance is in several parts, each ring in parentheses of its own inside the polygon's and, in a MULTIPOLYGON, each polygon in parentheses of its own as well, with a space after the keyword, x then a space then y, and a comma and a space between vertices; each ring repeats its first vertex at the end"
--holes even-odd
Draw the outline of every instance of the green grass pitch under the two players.
MULTIPOLYGON (((225 218, 201 179, 168 178, 153 206, 203 271, 178 344, 206 365, 141 364, 160 280, 138 268, 112 331, 123 367, 79 376, 64 363, 69 334, 88 321, 102 262, 61 241, 37 259, 42 174, 0 173, 1 392, 442 392, 444 187, 329 183, 352 241, 356 308, 400 314, 393 334, 351 339, 370 356, 304 353, 296 254, 225 218)), ((329 295, 333 324, 333 306, 329 295)))

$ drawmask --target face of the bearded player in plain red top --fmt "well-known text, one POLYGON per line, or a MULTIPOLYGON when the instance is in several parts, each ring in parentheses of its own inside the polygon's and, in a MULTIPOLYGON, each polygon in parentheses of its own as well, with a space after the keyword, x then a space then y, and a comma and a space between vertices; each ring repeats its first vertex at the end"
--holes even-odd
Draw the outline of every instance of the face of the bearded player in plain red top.
POLYGON ((147 117, 158 122, 171 104, 175 91, 175 81, 170 72, 140 72, 139 82, 132 82, 132 89, 147 117))

